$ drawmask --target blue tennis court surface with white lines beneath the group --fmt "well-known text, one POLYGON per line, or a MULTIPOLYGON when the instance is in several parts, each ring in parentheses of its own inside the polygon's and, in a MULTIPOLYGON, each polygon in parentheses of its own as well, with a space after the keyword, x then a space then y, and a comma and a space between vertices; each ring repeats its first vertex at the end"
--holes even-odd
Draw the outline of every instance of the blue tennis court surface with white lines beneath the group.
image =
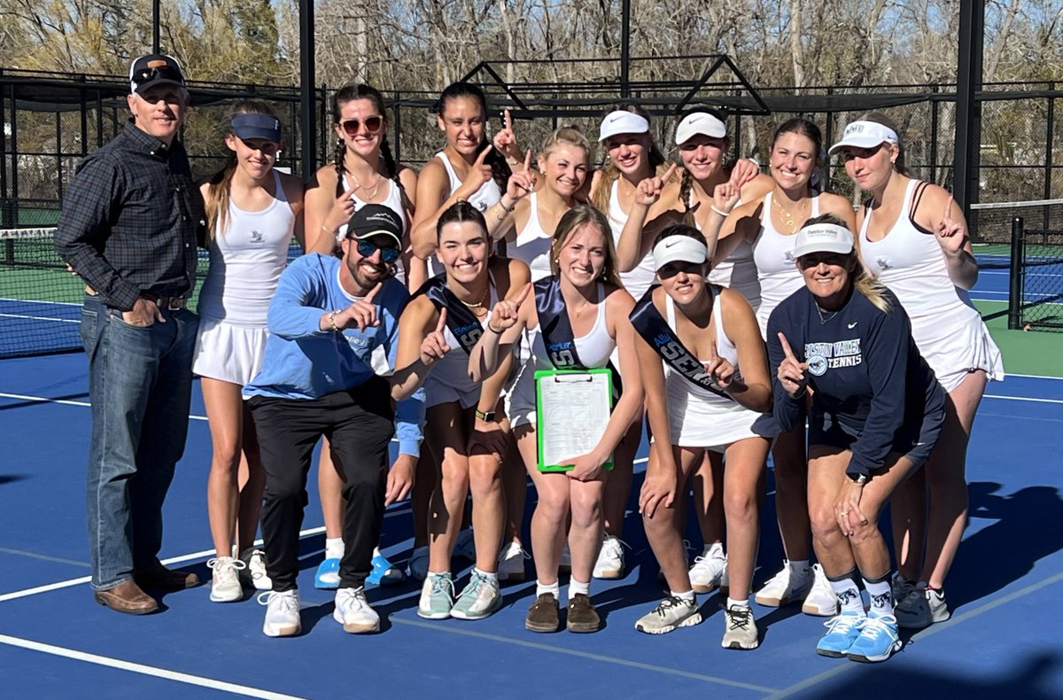
MULTIPOLYGON (((313 487, 299 579, 302 636, 267 638, 254 598, 212 603, 207 586, 167 595, 156 615, 118 615, 97 605, 87 584, 85 373, 81 354, 0 363, 0 697, 1063 697, 1063 380, 990 385, 969 449, 971 524, 948 580, 954 617, 871 666, 817 656, 824 618, 799 605, 754 604, 761 646, 750 652, 720 647, 719 596, 701 597, 701 626, 637 632, 635 620, 663 584, 636 513, 625 528, 627 577, 592 585, 606 622, 596 634, 524 630, 535 597, 528 562, 528 582, 503 584, 505 605, 486 620, 422 620, 418 588, 404 584, 369 591, 381 634, 349 635, 332 619, 332 594, 313 586, 323 549, 313 487)), ((198 386, 192 415, 167 500, 163 556, 206 580, 210 440, 198 386)), ((770 487, 755 584, 781 561, 773 502, 770 487)), ((410 537, 408 502, 396 504, 384 528, 392 561, 405 563, 410 537)))

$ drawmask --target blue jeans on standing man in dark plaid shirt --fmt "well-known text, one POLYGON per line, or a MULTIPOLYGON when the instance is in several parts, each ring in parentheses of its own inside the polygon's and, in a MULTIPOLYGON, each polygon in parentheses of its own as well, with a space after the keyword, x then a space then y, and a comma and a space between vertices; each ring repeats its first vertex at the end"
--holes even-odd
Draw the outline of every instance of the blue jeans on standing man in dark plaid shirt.
POLYGON ((137 327, 86 295, 92 439, 86 515, 92 588, 106 590, 158 565, 163 500, 185 450, 199 317, 164 310, 137 327))

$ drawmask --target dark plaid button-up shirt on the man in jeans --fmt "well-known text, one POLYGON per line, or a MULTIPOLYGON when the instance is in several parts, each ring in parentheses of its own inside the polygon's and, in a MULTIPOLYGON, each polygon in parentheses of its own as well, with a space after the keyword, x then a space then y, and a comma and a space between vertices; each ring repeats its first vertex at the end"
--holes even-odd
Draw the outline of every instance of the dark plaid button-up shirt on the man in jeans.
POLYGON ((107 306, 130 311, 141 293, 188 297, 202 215, 181 141, 167 147, 131 120, 78 167, 55 250, 107 306))

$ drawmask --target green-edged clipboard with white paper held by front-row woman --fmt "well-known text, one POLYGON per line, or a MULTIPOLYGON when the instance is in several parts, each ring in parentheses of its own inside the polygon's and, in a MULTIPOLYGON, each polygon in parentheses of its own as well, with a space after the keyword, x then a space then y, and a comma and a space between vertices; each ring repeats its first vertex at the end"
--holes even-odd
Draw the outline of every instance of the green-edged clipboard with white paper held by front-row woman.
MULTIPOLYGON (((556 462, 590 452, 609 424, 612 371, 539 369, 535 372, 536 440, 539 471, 569 471, 556 462), (563 454, 562 454, 563 452, 563 454)), ((612 469, 612 455, 602 465, 612 469)))

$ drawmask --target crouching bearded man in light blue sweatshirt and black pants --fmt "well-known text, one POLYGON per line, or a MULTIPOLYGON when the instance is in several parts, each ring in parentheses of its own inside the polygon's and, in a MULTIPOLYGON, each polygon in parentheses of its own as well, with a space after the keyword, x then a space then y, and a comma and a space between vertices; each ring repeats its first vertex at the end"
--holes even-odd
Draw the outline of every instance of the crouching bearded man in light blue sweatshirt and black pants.
POLYGON ((414 461, 388 471, 388 444, 398 413, 400 452, 416 454, 423 396, 393 407, 399 316, 409 295, 391 276, 403 221, 390 209, 366 204, 340 243, 343 256, 310 253, 288 266, 269 307, 270 337, 250 397, 266 471, 261 528, 273 582, 263 632, 299 634, 299 531, 314 446, 328 438, 344 474, 340 584, 333 617, 347 632, 375 632, 379 617, 364 583, 379 540, 384 509, 405 498, 414 461))

